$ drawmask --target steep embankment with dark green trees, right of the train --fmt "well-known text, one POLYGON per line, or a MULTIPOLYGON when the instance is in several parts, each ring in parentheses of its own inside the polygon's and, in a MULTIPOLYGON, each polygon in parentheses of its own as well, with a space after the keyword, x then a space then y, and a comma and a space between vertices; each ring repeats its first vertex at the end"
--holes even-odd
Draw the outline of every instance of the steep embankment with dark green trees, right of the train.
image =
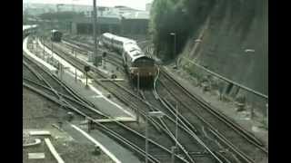
MULTIPOLYGON (((174 59, 180 53, 268 94, 267 8, 266 0, 155 0, 149 32, 159 57, 174 59)), ((186 60, 181 65, 196 71, 186 60)))

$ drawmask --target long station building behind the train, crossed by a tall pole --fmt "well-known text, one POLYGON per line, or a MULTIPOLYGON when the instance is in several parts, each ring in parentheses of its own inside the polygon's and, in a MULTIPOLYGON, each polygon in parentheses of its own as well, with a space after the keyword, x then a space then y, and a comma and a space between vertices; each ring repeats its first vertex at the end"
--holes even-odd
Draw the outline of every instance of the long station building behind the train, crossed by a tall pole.
MULTIPOLYGON (((96 33, 146 34, 149 12, 125 6, 98 7, 96 33)), ((93 34, 92 10, 75 16, 71 22, 72 34, 93 34)))

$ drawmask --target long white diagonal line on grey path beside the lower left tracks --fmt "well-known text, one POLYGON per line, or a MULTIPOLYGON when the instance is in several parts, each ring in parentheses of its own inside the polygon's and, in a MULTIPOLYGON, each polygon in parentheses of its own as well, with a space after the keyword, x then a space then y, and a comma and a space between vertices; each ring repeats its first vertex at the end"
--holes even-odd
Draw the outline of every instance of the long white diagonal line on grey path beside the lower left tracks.
POLYGON ((92 141, 95 145, 97 145, 98 147, 100 147, 100 149, 102 149, 105 154, 109 157, 112 158, 115 163, 121 163, 121 161, 115 157, 115 155, 113 153, 111 153, 108 149, 106 149, 100 142, 98 142, 97 140, 95 140, 94 138, 92 138, 89 134, 87 134, 84 130, 76 127, 74 124, 71 124, 71 126, 76 129, 77 131, 79 131, 80 133, 82 133, 86 139, 89 139, 90 141, 92 141))

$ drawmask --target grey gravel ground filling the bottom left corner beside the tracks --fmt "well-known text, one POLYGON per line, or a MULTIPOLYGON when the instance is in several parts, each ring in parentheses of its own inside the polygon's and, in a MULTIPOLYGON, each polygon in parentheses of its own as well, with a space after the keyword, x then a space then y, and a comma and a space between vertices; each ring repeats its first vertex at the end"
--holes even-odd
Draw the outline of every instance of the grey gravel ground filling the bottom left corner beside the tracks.
MULTIPOLYGON (((49 137, 55 146, 60 157, 68 163, 77 162, 103 162, 113 163, 104 153, 99 156, 93 154, 93 145, 79 139, 73 139, 71 135, 62 132, 52 127, 52 124, 57 124, 58 121, 64 121, 67 110, 61 109, 52 101, 47 101, 45 98, 36 94, 33 91, 23 89, 23 136, 28 138, 30 129, 49 130, 52 137, 49 137)), ((81 117, 75 116, 75 120, 83 120, 81 117)), ((36 137, 35 137, 36 138, 36 137)), ((29 139, 35 139, 31 136, 29 139)), ((38 137, 42 139, 42 137, 38 137)), ((56 162, 55 158, 50 154, 46 147, 44 139, 40 145, 34 147, 26 147, 23 149, 23 162, 34 163, 56 162), (28 153, 45 153, 45 159, 28 159, 28 153)))

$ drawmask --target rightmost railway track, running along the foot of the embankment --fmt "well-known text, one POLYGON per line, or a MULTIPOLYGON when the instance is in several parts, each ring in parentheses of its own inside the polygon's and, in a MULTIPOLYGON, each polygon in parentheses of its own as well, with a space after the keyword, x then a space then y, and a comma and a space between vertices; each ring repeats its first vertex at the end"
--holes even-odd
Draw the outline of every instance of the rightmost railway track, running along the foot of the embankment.
MULTIPOLYGON (((229 149, 244 162, 257 162, 267 157, 267 149, 260 140, 248 133, 222 113, 213 109, 208 103, 202 101, 187 91, 182 85, 162 69, 157 82, 156 90, 160 96, 170 103, 179 105, 179 112, 196 128, 197 133, 209 133, 213 139, 218 139, 224 148, 229 149), (171 89, 169 89, 171 88, 171 89), (189 114, 190 113, 190 114, 189 114), (200 122, 199 122, 200 121, 200 122)), ((206 134, 204 134, 206 135, 206 134)))

